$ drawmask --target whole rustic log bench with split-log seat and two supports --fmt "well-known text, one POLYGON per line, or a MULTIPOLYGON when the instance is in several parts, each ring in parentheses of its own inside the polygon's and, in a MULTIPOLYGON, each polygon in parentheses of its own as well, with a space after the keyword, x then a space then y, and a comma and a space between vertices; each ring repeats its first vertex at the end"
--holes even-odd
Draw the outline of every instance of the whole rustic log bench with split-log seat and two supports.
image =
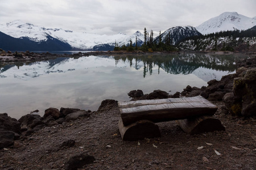
POLYGON ((202 96, 158 100, 118 102, 118 122, 125 141, 160 137, 156 122, 176 120, 186 133, 225 130, 220 120, 212 117, 217 106, 202 96))

